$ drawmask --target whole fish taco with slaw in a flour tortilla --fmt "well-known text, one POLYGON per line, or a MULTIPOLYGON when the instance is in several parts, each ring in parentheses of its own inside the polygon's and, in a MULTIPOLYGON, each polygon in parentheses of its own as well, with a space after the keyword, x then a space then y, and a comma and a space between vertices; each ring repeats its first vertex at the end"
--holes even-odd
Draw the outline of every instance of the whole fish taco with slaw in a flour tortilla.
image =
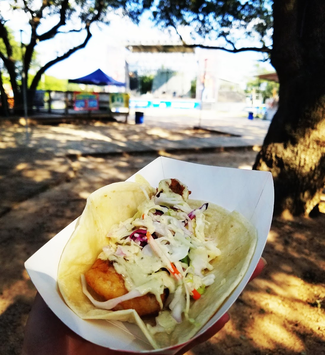
POLYGON ((256 229, 191 200, 177 179, 93 192, 62 253, 58 286, 82 319, 138 324, 155 349, 186 342, 243 278, 256 229))

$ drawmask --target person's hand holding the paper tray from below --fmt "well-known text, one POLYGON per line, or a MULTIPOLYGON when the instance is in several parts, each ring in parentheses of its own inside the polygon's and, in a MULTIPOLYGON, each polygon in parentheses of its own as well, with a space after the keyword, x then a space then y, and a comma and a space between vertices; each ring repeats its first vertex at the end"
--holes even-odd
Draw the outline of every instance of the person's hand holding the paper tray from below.
MULTIPOLYGON (((266 266, 265 259, 257 263, 249 281, 259 275, 266 266)), ((180 349, 182 355, 193 346, 205 342, 229 321, 225 313, 212 327, 180 349)), ((36 294, 32 310, 25 327, 22 355, 134 355, 127 351, 117 351, 92 344, 71 331, 46 305, 41 295, 36 294)))

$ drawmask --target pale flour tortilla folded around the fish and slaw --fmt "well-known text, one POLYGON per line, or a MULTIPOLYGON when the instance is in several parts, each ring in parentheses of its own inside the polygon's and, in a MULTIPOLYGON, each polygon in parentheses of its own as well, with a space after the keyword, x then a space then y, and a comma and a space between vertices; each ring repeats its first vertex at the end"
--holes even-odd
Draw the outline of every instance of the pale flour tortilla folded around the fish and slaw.
MULTIPOLYGON (((58 286, 66 304, 82 319, 127 321, 138 324, 154 349, 180 344, 191 339, 217 312, 243 278, 255 250, 255 227, 238 212, 209 203, 204 212, 211 224, 205 233, 218 241, 221 255, 211 264, 215 282, 197 301, 191 301, 189 315, 194 322, 184 320, 171 334, 151 335, 134 310, 109 311, 96 308, 82 292, 80 275, 88 271, 108 244, 107 233, 114 224, 124 221, 137 212, 145 200, 142 189, 149 195, 152 188, 137 182, 117 182, 93 192, 74 233, 62 253, 58 269, 58 286), (141 188, 142 186, 142 188, 141 188)), ((203 201, 188 200, 192 208, 203 201)))

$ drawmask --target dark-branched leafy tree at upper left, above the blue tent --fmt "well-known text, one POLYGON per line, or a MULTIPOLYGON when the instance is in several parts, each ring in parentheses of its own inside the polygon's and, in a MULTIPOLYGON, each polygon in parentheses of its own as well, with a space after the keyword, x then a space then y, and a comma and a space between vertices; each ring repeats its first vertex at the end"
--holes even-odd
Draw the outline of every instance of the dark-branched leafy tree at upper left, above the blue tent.
MULTIPOLYGON (((21 14, 25 14, 26 23, 30 24, 30 39, 29 43, 24 45, 23 54, 26 77, 28 77, 33 53, 38 43, 50 40, 58 33, 84 33, 83 42, 75 44, 74 47, 39 68, 31 81, 31 91, 36 89, 42 74, 47 69, 86 46, 92 35, 91 26, 93 23, 102 22, 108 24, 106 16, 108 12, 120 10, 123 15, 129 16, 133 21, 137 22, 140 13, 143 11, 143 5, 124 0, 0 0, 2 6, 4 6, 4 3, 6 3, 6 5, 9 4, 10 11, 13 13, 20 12, 21 14), (131 6, 132 4, 136 6, 131 6), (49 17, 54 18, 56 23, 42 32, 39 26, 49 17)), ((13 91, 17 93, 17 59, 15 56, 15 46, 13 46, 10 41, 11 34, 5 25, 7 19, 4 16, 5 14, 3 12, 0 13, 0 39, 3 43, 0 48, 0 59, 2 59, 9 73, 13 91)))

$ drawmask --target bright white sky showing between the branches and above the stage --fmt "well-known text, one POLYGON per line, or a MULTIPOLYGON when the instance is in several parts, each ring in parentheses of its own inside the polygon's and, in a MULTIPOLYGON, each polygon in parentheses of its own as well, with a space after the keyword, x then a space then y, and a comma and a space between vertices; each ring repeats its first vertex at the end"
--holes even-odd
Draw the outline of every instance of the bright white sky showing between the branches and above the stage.
MULTIPOLYGON (((23 11, 15 12, 13 16, 5 8, 5 5, 2 5, 1 12, 4 14, 4 18, 9 18, 6 24, 14 31, 16 40, 20 42, 20 30, 22 29, 22 41, 27 43, 30 38, 30 25, 26 14, 23 11)), ((56 22, 56 18, 48 18, 46 22, 41 22, 38 33, 46 31, 56 22)), ((78 28, 78 25, 76 26, 78 28)), ((120 67, 123 58, 125 57, 127 61, 131 62, 137 60, 137 55, 132 55, 124 49, 126 44, 155 43, 157 40, 176 42, 178 40, 175 34, 171 35, 167 31, 161 32, 154 27, 148 18, 144 18, 139 25, 136 25, 127 18, 121 18, 118 15, 110 16, 109 26, 100 24, 99 28, 96 24, 92 24, 91 32, 92 37, 84 49, 78 50, 68 59, 50 67, 46 74, 57 78, 71 79, 87 75, 100 68, 107 75, 116 80, 121 80, 120 67)), ((44 65, 49 60, 54 59, 57 54, 63 54, 66 50, 74 47, 76 43, 82 43, 84 37, 85 33, 59 34, 51 40, 41 42, 36 47, 37 58, 44 65)), ((257 64, 269 72, 274 71, 270 63, 259 61, 262 59, 262 55, 256 52, 247 51, 236 54, 221 50, 214 52, 218 75, 225 80, 244 83, 249 77, 257 74, 257 64)), ((140 57, 141 64, 144 66, 146 62, 150 64, 150 61, 155 60, 157 59, 150 59, 150 55, 140 57)), ((190 66, 190 64, 188 65, 190 66)), ((190 67, 188 70, 191 70, 190 67)), ((193 70, 196 69, 193 68, 193 70)))

